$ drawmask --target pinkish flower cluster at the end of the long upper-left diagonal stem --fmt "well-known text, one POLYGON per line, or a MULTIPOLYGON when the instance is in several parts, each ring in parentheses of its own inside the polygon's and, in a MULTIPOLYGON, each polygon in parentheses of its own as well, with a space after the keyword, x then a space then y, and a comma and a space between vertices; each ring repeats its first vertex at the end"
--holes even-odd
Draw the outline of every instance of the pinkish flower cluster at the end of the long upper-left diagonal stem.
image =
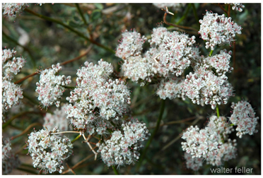
POLYGON ((141 37, 141 34, 135 30, 133 32, 125 30, 122 32, 122 39, 117 47, 116 56, 124 60, 129 57, 139 56, 141 54, 142 45, 146 40, 146 37, 141 37))

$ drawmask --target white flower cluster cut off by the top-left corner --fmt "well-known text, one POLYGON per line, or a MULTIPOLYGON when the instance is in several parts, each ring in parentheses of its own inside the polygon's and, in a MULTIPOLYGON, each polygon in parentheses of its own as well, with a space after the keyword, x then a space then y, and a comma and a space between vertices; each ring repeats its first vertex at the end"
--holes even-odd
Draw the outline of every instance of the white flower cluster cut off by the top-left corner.
POLYGON ((16 18, 18 13, 21 13, 28 7, 26 3, 3 3, 2 9, 4 9, 4 15, 8 18, 16 18))

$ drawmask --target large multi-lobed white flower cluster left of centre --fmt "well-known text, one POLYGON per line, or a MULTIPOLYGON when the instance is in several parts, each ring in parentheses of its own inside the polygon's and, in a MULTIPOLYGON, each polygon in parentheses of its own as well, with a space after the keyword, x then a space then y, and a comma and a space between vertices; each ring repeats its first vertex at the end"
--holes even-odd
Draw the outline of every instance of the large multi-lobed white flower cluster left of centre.
POLYGON ((86 61, 78 69, 77 88, 66 97, 72 103, 66 107, 67 118, 77 129, 84 129, 98 119, 119 119, 126 112, 127 104, 131 103, 129 90, 124 81, 110 79, 112 73, 112 64, 103 59, 98 65, 86 61))

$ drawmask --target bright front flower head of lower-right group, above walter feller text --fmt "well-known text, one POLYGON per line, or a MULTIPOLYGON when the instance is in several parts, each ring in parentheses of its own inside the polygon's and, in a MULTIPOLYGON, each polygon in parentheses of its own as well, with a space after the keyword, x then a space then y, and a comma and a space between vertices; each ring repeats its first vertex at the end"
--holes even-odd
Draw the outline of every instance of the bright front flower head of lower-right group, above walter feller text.
POLYGON ((199 129, 191 126, 182 134, 186 142, 182 142, 182 150, 190 153, 192 158, 206 158, 206 161, 216 160, 221 148, 220 135, 211 129, 199 129))

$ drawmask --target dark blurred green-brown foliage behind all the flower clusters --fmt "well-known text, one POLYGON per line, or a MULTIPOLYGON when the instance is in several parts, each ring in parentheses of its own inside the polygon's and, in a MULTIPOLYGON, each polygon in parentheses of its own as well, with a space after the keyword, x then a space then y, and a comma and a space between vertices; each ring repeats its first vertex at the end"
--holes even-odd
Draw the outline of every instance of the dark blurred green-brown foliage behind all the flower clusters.
MULTIPOLYGON (((153 28, 163 26, 169 30, 175 28, 163 24, 164 12, 160 7, 153 4, 78 4, 83 12, 86 23, 83 22, 76 4, 29 4, 28 9, 43 16, 59 20, 69 25, 84 37, 72 32, 59 23, 52 22, 34 16, 32 13, 23 11, 14 20, 2 17, 2 48, 16 47, 17 55, 26 57, 27 63, 13 81, 28 76, 39 69, 45 69, 52 64, 62 63, 69 59, 83 54, 91 45, 85 37, 92 38, 93 43, 104 45, 109 50, 93 45, 91 51, 81 59, 62 66, 61 74, 71 76, 72 86, 76 84, 76 70, 85 61, 97 64, 103 59, 112 63, 115 70, 122 76, 120 62, 122 59, 115 57, 114 51, 122 38, 123 30, 135 29, 141 35, 151 38, 153 28), (112 50, 110 50, 112 49, 112 50)), ((221 4, 225 7, 225 4, 221 4)), ((226 162, 224 167, 247 167, 253 168, 252 174, 261 174, 261 4, 244 4, 242 12, 231 9, 230 16, 235 23, 242 26, 242 34, 236 35, 235 57, 231 59, 231 66, 234 67, 232 73, 228 73, 228 81, 233 85, 235 97, 230 97, 227 105, 219 107, 221 115, 230 117, 231 102, 246 100, 255 109, 256 116, 259 117, 257 129, 254 135, 244 135, 242 138, 235 136, 235 132, 230 135, 231 139, 237 139, 238 155, 234 160, 226 162)), ((192 28, 199 29, 198 19, 202 19, 206 10, 213 11, 219 15, 223 10, 218 4, 180 4, 169 8, 175 16, 168 15, 168 22, 178 23, 192 28), (196 11, 196 13, 194 13, 196 11)), ((192 34, 190 35, 192 36, 192 34)), ((195 34, 197 47, 201 54, 208 55, 209 49, 204 47, 204 42, 195 34)), ((150 47, 148 42, 144 44, 146 51, 150 47)), ((216 47, 214 54, 222 49, 234 51, 233 46, 225 45, 216 47)), ((233 54, 232 54, 233 56, 233 54)), ((186 75, 187 73, 185 73, 186 75)), ((2 130, 4 137, 16 136, 30 124, 43 123, 45 110, 40 110, 35 93, 35 83, 39 81, 39 75, 35 75, 23 81, 21 88, 27 97, 22 100, 22 105, 13 107, 6 115, 7 119, 13 119, 11 124, 2 130), (37 112, 40 112, 37 114, 37 112)), ((138 84, 127 80, 131 93, 132 117, 139 121, 146 122, 148 129, 152 132, 156 126, 160 111, 160 97, 156 96, 156 86, 146 85, 140 87, 138 84)), ((62 102, 66 102, 66 90, 62 102)), ((54 111, 55 106, 49 107, 48 111, 54 111)), ((206 165, 197 172, 188 170, 185 166, 184 152, 182 151, 180 138, 182 131, 191 125, 203 128, 207 119, 216 111, 209 105, 201 107, 192 104, 191 100, 181 99, 165 100, 165 111, 158 133, 153 138, 150 148, 146 153, 146 159, 141 167, 136 169, 136 165, 120 167, 120 174, 211 174, 210 168, 206 165)), ((42 126, 35 126, 41 129, 42 126)), ((32 131, 30 129, 27 134, 32 131)), ((24 150, 27 134, 23 134, 11 141, 12 150, 18 154, 21 160, 21 169, 13 170, 11 174, 37 174, 38 171, 32 166, 32 159, 27 155, 28 150, 24 150), (30 171, 23 171, 30 170, 30 171)), ((74 136, 69 135, 70 138, 74 136)), ((66 163, 69 167, 92 154, 86 144, 81 143, 81 139, 74 143, 74 155, 66 163)), ((67 166, 64 165, 65 170, 67 166)), ((111 167, 107 167, 100 159, 94 161, 93 158, 86 160, 74 169, 76 174, 114 174, 111 167)), ((72 174, 71 172, 67 174, 72 174)))

